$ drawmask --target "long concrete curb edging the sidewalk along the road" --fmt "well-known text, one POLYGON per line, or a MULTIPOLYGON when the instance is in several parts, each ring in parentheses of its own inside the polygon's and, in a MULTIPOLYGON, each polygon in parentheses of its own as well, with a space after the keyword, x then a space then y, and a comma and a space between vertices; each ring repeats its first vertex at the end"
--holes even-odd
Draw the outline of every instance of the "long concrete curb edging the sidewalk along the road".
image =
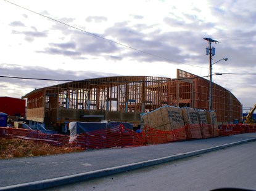
POLYGON ((256 138, 232 142, 229 144, 224 144, 224 145, 216 146, 216 147, 210 147, 208 149, 194 150, 191 152, 186 152, 184 154, 171 155, 168 157, 156 158, 153 160, 146 160, 143 162, 131 163, 128 165, 121 165, 121 166, 115 166, 112 168, 105 168, 102 170, 90 171, 87 173, 73 174, 70 176, 46 179, 43 181, 35 181, 35 182, 28 182, 28 183, 17 184, 17 185, 9 185, 6 187, 0 187, 0 190, 18 191, 18 190, 47 189, 49 187, 54 187, 54 186, 59 186, 59 185, 64 185, 64 184, 69 184, 69 183, 74 183, 74 182, 80 182, 80 181, 86 181, 87 179, 94 178, 94 177, 102 177, 102 176, 107 176, 107 175, 111 175, 111 174, 122 173, 125 171, 136 170, 138 168, 142 168, 142 167, 146 167, 146 166, 152 166, 152 165, 158 165, 160 163, 171 162, 173 160, 178 160, 178 159, 186 158, 186 157, 192 157, 194 155, 204 154, 207 152, 212 152, 214 150, 219 150, 219 149, 223 149, 226 147, 236 146, 237 144, 242 144, 242 143, 252 142, 252 141, 256 141, 256 138))

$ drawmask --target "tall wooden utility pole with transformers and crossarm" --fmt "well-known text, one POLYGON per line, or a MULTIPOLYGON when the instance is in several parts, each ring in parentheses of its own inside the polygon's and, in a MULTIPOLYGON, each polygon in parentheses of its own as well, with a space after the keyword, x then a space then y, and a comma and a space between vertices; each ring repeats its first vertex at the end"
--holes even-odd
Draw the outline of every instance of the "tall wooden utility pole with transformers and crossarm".
POLYGON ((215 47, 212 47, 212 42, 215 42, 216 44, 218 41, 211 38, 204 38, 204 40, 209 43, 209 47, 206 47, 206 54, 209 55, 210 61, 209 111, 212 111, 212 57, 215 55, 215 47))

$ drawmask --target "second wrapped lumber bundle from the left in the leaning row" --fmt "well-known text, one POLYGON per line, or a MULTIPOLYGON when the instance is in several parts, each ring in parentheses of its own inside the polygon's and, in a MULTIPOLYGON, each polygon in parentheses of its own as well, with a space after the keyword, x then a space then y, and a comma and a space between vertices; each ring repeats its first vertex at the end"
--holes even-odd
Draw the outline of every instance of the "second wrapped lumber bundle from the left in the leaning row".
POLYGON ((188 139, 202 139, 202 131, 199 124, 199 116, 197 109, 183 107, 183 118, 186 125, 188 139))

